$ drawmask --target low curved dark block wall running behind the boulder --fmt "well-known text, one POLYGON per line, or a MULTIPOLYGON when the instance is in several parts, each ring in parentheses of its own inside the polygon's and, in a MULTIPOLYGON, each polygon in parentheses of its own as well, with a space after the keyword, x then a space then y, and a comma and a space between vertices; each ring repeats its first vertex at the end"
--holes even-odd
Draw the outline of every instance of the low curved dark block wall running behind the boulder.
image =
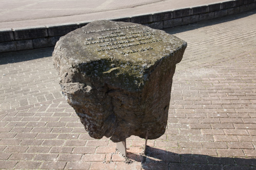
MULTIPOLYGON (((256 0, 233 0, 173 11, 110 18, 109 20, 140 23, 154 29, 165 29, 252 9, 256 9, 256 0)), ((54 46, 61 36, 86 26, 91 21, 0 29, 0 53, 54 46)))

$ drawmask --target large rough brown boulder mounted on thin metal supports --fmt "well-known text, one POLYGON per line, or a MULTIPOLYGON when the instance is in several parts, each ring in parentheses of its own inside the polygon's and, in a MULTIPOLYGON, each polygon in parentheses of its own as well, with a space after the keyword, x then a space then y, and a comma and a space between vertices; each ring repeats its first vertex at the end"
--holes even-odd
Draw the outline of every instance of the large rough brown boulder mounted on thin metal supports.
POLYGON ((54 66, 91 137, 165 132, 172 78, 186 42, 136 23, 100 20, 60 38, 54 66), (105 41, 105 42, 102 42, 105 41))

